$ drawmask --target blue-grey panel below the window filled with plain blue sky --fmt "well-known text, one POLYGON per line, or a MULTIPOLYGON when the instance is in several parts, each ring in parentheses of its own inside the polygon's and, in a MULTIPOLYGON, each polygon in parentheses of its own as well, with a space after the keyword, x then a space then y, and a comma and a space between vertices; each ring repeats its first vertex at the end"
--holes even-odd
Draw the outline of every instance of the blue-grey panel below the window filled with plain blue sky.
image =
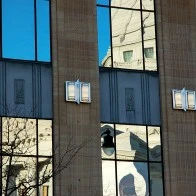
POLYGON ((0 114, 52 117, 52 70, 43 64, 1 63, 0 114))

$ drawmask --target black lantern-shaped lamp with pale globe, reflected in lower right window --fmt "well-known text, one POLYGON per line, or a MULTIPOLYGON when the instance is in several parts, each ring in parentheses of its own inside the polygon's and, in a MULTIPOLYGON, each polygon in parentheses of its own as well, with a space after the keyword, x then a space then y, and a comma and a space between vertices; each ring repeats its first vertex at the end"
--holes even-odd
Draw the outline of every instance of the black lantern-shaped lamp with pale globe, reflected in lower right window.
POLYGON ((105 132, 101 134, 101 136, 105 135, 103 136, 103 144, 101 147, 103 149, 103 152, 108 156, 111 156, 115 150, 113 137, 110 134, 111 134, 111 131, 109 129, 107 129, 105 132))

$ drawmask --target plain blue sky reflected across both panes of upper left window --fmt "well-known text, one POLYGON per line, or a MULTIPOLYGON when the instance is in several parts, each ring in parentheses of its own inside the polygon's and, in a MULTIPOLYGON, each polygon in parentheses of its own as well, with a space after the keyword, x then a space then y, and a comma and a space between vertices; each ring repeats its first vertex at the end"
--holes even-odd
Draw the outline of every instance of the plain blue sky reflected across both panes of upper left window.
POLYGON ((2 0, 2 48, 3 58, 49 62, 49 1, 37 0, 34 10, 34 0, 2 0))

